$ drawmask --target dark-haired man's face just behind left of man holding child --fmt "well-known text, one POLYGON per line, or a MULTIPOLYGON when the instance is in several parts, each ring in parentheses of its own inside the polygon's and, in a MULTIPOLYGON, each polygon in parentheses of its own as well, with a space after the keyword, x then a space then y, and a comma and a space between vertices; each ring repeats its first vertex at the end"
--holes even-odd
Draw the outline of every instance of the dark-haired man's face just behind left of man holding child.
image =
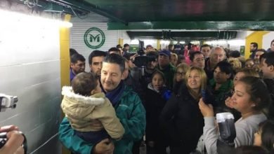
POLYGON ((100 76, 103 59, 107 56, 106 52, 100 50, 94 50, 89 55, 89 68, 91 72, 96 73, 96 76, 100 76))

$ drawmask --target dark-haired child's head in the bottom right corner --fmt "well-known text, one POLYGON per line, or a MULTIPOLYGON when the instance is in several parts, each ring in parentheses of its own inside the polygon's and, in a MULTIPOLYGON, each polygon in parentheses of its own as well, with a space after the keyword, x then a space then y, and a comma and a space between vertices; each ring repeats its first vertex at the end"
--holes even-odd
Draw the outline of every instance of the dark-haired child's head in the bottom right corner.
POLYGON ((266 148, 274 153, 274 121, 266 120, 259 124, 259 130, 254 134, 254 145, 266 148))

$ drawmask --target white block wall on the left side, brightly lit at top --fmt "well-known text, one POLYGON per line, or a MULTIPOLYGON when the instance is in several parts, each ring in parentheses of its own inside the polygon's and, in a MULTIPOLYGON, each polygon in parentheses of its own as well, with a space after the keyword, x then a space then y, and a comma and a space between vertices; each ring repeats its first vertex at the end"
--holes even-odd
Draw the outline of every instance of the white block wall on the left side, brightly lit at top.
POLYGON ((60 124, 59 27, 14 20, 15 24, 1 20, 0 93, 18 96, 18 105, 0 113, 0 126, 18 125, 27 137, 28 153, 61 153, 56 135, 60 124))

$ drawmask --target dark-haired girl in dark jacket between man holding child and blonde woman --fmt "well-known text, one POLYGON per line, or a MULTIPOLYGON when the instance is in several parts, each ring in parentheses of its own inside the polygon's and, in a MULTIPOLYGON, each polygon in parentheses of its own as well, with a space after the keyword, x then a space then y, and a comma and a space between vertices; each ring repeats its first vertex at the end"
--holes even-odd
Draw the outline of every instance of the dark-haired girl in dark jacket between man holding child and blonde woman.
POLYGON ((164 73, 155 71, 152 74, 152 81, 145 90, 144 106, 146 110, 146 128, 145 142, 148 154, 166 154, 167 139, 159 127, 159 115, 164 108, 169 96, 170 90, 164 85, 164 73))

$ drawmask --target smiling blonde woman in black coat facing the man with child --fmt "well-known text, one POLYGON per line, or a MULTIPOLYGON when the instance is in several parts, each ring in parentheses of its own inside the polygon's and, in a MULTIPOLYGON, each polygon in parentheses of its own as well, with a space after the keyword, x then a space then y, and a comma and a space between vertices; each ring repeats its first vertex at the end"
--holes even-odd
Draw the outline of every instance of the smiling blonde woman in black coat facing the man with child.
POLYGON ((195 150, 204 126, 198 102, 202 97, 201 90, 206 87, 207 75, 204 69, 190 67, 185 73, 185 84, 164 106, 160 124, 171 138, 171 154, 190 153, 195 150))

